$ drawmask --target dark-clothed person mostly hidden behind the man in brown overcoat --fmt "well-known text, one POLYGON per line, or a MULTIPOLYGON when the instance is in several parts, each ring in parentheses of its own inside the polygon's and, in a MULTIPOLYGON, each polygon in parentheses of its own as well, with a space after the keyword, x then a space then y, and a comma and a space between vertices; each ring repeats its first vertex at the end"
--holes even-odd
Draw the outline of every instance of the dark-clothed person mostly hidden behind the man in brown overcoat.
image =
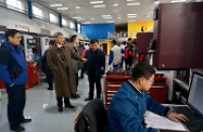
MULTIPOLYGON (((49 48, 52 47, 53 44, 55 44, 55 40, 50 40, 49 48)), ((49 84, 48 90, 53 90, 53 72, 51 71, 47 63, 48 52, 49 52, 49 49, 46 50, 46 52, 43 53, 43 56, 41 57, 41 70, 42 72, 46 74, 47 82, 49 84)))

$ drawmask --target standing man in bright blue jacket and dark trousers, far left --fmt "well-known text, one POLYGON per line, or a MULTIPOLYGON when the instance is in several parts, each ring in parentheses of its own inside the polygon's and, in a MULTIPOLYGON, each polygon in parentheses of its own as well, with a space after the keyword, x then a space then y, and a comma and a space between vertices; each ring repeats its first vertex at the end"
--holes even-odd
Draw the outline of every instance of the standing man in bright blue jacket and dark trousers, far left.
POLYGON ((8 92, 8 118, 10 129, 25 131, 21 123, 30 122, 25 119, 25 83, 27 80, 27 66, 20 45, 21 35, 18 30, 9 29, 5 32, 7 40, 0 48, 0 78, 2 78, 8 92))

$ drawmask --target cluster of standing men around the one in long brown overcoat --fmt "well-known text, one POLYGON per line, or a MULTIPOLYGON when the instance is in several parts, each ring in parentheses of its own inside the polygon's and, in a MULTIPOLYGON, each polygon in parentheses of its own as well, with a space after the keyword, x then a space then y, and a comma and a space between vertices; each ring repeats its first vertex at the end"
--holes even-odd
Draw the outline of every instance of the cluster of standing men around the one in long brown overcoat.
MULTIPOLYGON (((80 62, 85 64, 84 68, 89 80, 89 95, 85 101, 93 98, 94 83, 97 97, 101 97, 101 74, 105 70, 105 56, 103 51, 98 49, 99 41, 97 39, 90 41, 90 49, 85 54, 79 50, 79 39, 76 35, 72 36, 69 41, 71 43, 63 44, 63 34, 56 32, 54 35, 54 44, 42 56, 42 61, 43 58, 47 60, 48 68, 53 72, 59 111, 63 111, 63 105, 68 108, 75 108, 71 104, 69 97, 80 97, 76 93, 80 62)), ((47 77, 49 74, 46 74, 47 77)), ((51 78, 51 81, 53 81, 53 78, 51 78)), ((49 85, 52 84, 49 82, 49 79, 48 83, 49 85)), ((52 89, 52 85, 48 89, 52 89)))

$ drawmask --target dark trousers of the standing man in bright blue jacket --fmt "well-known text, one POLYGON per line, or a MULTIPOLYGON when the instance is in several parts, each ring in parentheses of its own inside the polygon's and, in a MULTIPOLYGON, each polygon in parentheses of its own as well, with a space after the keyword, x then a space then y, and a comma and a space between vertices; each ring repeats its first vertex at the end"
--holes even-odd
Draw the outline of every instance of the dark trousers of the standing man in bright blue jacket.
POLYGON ((11 129, 15 129, 20 126, 20 122, 24 120, 23 110, 25 108, 25 84, 15 84, 13 87, 7 87, 8 92, 8 118, 11 129))

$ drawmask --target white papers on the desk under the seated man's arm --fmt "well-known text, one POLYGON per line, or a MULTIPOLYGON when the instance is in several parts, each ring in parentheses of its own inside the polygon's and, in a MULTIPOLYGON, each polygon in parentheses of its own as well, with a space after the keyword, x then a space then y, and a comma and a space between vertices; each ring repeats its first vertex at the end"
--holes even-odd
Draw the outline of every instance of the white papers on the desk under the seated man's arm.
POLYGON ((174 122, 151 111, 145 113, 145 122, 148 124, 147 127, 160 130, 187 131, 180 122, 174 122))

